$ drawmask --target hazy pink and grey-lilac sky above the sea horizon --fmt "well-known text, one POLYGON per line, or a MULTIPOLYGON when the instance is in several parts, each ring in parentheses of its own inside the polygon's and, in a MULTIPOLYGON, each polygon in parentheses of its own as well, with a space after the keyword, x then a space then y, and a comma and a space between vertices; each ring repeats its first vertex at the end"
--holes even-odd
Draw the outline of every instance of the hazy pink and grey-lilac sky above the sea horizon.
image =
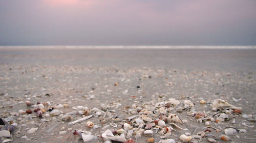
POLYGON ((256 1, 0 0, 0 45, 256 45, 256 1))

